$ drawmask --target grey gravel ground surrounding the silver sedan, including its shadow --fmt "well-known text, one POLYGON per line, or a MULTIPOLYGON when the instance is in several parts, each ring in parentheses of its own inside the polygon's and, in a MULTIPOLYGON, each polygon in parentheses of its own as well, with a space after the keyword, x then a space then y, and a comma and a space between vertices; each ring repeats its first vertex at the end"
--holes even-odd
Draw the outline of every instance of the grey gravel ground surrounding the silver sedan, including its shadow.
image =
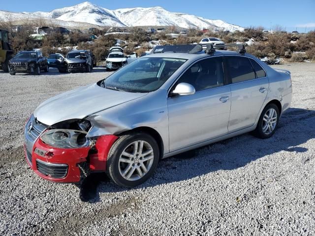
POLYGON ((37 177, 23 126, 47 98, 109 75, 0 73, 0 235, 315 235, 315 64, 292 73, 292 108, 268 140, 241 135, 162 160, 134 189, 101 177, 95 198, 37 177))

